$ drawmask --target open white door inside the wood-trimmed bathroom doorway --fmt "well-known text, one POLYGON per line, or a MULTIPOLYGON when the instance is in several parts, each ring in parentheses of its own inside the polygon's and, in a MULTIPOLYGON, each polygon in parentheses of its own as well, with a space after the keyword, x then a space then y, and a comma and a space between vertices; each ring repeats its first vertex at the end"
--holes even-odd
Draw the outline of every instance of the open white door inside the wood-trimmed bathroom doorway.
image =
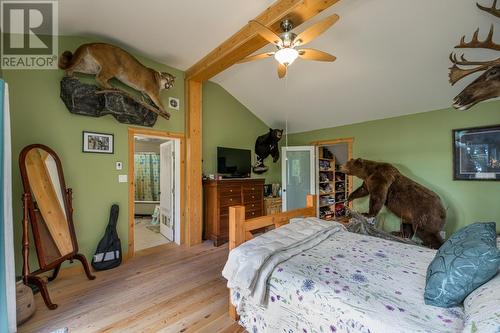
POLYGON ((160 233, 174 240, 174 143, 160 145, 160 233))

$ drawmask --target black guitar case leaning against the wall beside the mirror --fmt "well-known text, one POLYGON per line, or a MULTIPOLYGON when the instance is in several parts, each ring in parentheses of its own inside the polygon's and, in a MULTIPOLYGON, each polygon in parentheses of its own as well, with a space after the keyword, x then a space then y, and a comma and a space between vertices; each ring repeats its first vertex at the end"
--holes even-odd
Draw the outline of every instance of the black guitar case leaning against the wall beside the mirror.
POLYGON ((118 212, 118 205, 112 205, 108 226, 92 258, 92 267, 97 271, 115 268, 122 262, 122 246, 120 238, 118 238, 118 233, 116 232, 118 212))

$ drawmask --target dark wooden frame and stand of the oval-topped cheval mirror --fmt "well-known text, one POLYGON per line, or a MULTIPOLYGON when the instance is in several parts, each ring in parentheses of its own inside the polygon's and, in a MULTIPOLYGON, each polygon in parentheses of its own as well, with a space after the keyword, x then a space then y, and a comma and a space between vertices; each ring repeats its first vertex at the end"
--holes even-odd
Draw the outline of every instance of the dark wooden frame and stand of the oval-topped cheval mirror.
POLYGON ((61 268, 61 265, 64 261, 69 260, 70 262, 73 262, 74 259, 80 261, 83 265, 83 268, 85 270, 85 274, 87 275, 87 278, 89 280, 95 279, 95 276, 91 274, 90 272, 90 267, 87 262, 87 259, 85 256, 81 253, 78 253, 78 242, 76 240, 76 233, 75 233, 75 228, 73 225, 73 205, 72 205, 72 196, 73 196, 73 191, 71 188, 66 188, 66 183, 64 181, 64 173, 63 173, 63 168, 61 164, 61 160, 59 159, 59 156, 49 147, 42 145, 42 144, 32 144, 29 146, 26 146, 20 153, 19 155, 19 168, 21 170, 21 178, 22 178, 22 183, 23 183, 23 189, 24 193, 22 196, 22 201, 23 201, 23 240, 22 240, 22 246, 23 246, 23 270, 22 270, 22 275, 23 275, 23 282, 24 284, 28 285, 35 285, 38 287, 40 290, 40 293, 43 297, 43 300, 45 302, 45 305, 53 310, 57 308, 57 304, 52 303, 48 289, 47 289, 47 284, 49 281, 54 280, 57 275, 59 274, 59 270, 61 268), (58 258, 53 259, 48 261, 47 257, 45 255, 45 244, 44 244, 44 239, 41 236, 41 221, 40 221, 40 216, 41 213, 39 212, 38 208, 35 205, 36 200, 33 199, 32 196, 32 190, 31 190, 31 185, 30 181, 28 178, 28 171, 26 168, 26 157, 27 154, 32 150, 32 149, 42 149, 45 150, 48 154, 50 154, 56 163, 57 166, 57 173, 59 177, 59 184, 60 184, 60 190, 62 193, 63 197, 63 203, 64 203, 64 212, 66 213, 66 220, 68 223, 68 230, 69 230, 69 236, 71 238, 71 243, 72 243, 72 250, 69 253, 66 253, 64 255, 60 255, 58 258), (28 222, 29 221, 29 222, 28 222), (30 239, 29 239, 29 225, 31 225, 31 230, 33 234, 33 240, 34 240, 34 245, 35 245, 35 250, 37 253, 37 258, 38 258, 38 264, 39 268, 33 272, 30 271, 29 267, 29 247, 30 247, 30 239), (54 270, 52 276, 50 276, 48 279, 46 277, 38 276, 41 273, 48 272, 50 270, 54 270), (48 281, 47 281, 48 280, 48 281))

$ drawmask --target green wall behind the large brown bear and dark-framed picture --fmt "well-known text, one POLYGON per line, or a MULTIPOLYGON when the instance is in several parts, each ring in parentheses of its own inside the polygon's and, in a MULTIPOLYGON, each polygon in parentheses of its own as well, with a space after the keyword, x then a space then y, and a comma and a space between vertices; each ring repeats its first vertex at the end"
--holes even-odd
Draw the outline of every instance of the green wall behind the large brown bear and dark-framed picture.
MULTIPOLYGON (((335 115, 332 114, 332 117, 335 115)), ((477 221, 496 221, 500 230, 500 184, 494 181, 452 179, 452 129, 500 124, 500 102, 482 103, 468 112, 453 109, 369 121, 297 133, 292 145, 314 140, 354 137, 354 157, 393 163, 406 176, 438 193, 447 207, 447 235, 477 221)), ((360 185, 355 182, 355 187, 360 185)), ((365 211, 367 199, 355 200, 365 211)), ((387 229, 399 228, 399 220, 384 211, 379 218, 387 229)))

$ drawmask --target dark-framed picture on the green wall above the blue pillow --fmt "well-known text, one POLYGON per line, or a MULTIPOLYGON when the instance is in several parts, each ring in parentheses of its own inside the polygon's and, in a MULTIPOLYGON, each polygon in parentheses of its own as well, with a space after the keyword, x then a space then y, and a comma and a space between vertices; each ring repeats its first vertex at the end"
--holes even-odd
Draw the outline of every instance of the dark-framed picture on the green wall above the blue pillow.
POLYGON ((453 130, 453 179, 500 180, 500 125, 453 130))

